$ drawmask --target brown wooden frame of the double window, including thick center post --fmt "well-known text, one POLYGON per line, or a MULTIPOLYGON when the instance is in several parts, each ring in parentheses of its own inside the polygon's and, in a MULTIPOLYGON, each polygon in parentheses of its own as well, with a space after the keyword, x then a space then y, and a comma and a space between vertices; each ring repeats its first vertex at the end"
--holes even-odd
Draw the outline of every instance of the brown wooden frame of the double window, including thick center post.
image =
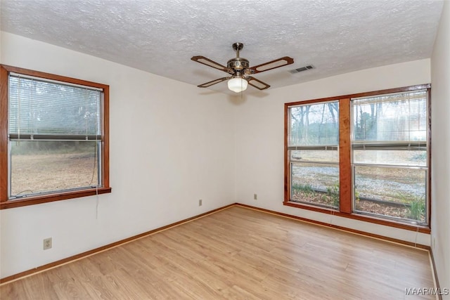
POLYGON ((293 103, 285 103, 284 107, 284 200, 283 204, 289 207, 297 207, 310 211, 317 211, 323 214, 333 214, 348 219, 356 219, 369 223, 376 223, 394 228, 413 230, 420 233, 430 233, 431 220, 431 191, 428 189, 428 226, 415 225, 412 223, 385 219, 383 217, 371 216, 366 214, 357 214, 352 211, 352 143, 351 143, 351 99, 377 96, 385 93, 399 93, 404 91, 416 91, 420 89, 428 90, 428 186, 431 186, 431 100, 430 100, 431 84, 420 84, 415 86, 406 86, 397 89, 386 89, 380 91, 371 91, 365 93, 355 93, 345 96, 319 98, 313 100, 297 101, 293 103), (290 159, 288 155, 288 134, 289 134, 289 107, 295 105, 304 105, 309 103, 321 103, 330 100, 338 100, 339 102, 339 168, 340 168, 340 207, 338 209, 315 206, 314 204, 306 204, 294 202, 290 200, 290 159))

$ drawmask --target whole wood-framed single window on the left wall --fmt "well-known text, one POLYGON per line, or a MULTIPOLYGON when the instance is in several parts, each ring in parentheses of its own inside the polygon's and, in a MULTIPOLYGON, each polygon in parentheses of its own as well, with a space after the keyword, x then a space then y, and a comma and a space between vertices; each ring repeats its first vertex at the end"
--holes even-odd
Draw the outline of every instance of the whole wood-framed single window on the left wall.
POLYGON ((109 86, 4 65, 1 86, 1 208, 110 192, 109 86))

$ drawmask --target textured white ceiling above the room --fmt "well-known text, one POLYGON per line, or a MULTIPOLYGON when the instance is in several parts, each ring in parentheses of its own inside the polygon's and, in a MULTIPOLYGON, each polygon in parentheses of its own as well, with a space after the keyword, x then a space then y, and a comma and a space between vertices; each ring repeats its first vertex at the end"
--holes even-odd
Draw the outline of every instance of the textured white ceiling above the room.
MULTIPOLYGON (((430 58, 442 0, 1 0, 1 30, 87 53, 188 84, 226 73, 231 45, 259 65, 271 89, 335 74, 430 58), (304 65, 313 70, 291 74, 304 65)), ((199 88, 200 89, 200 88, 199 88)), ((226 82, 209 89, 228 91, 226 82)), ((249 86, 245 93, 270 93, 249 86)))

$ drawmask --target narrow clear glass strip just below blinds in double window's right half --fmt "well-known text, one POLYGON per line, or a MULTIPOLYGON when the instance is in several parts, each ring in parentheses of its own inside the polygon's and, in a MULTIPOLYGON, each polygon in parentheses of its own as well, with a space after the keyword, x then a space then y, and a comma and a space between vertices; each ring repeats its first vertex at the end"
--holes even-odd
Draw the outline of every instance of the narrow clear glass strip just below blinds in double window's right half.
POLYGON ((427 166, 426 150, 354 150, 353 155, 356 164, 427 166))

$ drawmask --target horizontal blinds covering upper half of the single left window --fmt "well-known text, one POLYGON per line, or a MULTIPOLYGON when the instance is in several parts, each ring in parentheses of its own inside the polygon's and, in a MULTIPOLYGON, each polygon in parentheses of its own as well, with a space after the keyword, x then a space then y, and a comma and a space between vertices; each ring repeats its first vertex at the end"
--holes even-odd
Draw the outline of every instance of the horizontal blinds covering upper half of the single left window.
POLYGON ((11 139, 95 140, 101 136, 98 89, 33 77, 9 77, 11 139))

